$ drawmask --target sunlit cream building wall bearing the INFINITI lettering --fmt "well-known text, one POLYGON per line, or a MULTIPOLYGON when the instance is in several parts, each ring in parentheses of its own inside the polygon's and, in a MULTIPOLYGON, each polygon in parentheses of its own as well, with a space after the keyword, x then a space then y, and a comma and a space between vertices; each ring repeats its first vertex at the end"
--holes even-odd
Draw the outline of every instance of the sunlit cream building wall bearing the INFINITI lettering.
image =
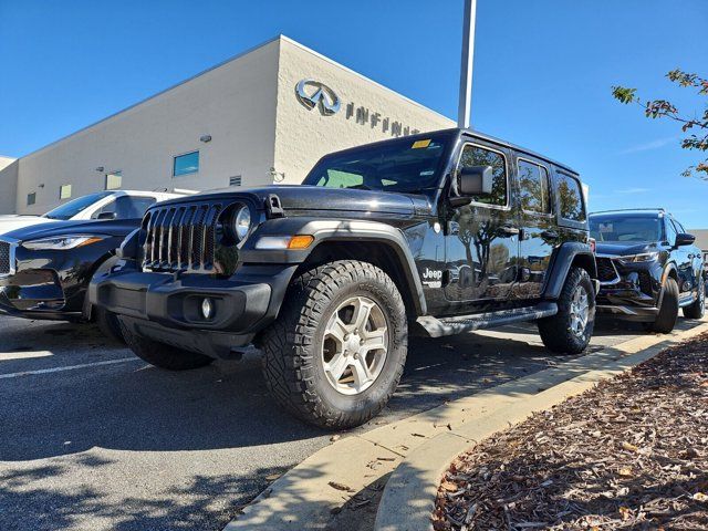
POLYGON ((426 132, 455 127, 455 122, 288 38, 281 38, 275 170, 284 174, 282 183, 300 184, 323 155, 392 138, 398 126, 400 134, 405 134, 414 129, 426 132), (295 96, 295 85, 303 79, 315 80, 332 88, 341 100, 340 111, 325 116, 317 107, 309 110, 302 105, 295 96), (388 127, 384 131, 386 119, 388 127))

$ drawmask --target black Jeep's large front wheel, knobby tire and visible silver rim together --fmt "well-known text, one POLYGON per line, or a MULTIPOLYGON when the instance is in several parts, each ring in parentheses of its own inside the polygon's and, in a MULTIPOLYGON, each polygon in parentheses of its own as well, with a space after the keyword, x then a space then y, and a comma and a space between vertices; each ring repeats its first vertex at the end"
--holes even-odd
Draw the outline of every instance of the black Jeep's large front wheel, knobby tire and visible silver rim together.
POLYGON ((393 395, 406 361, 406 310, 396 284, 367 262, 336 261, 295 279, 261 339, 275 399, 320 427, 364 424, 393 395))

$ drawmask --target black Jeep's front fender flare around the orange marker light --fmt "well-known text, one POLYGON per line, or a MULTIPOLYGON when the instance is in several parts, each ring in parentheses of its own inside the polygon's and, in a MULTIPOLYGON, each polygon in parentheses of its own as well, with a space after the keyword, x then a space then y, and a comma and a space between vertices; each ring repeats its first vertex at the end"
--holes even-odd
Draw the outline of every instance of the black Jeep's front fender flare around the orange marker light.
POLYGON ((375 241, 388 246, 395 253, 400 271, 410 290, 410 299, 417 315, 427 313, 427 304, 423 292, 423 283, 417 273, 415 259, 404 233, 391 225, 378 221, 358 221, 341 219, 322 219, 310 217, 291 217, 270 219, 259 227, 246 240, 240 250, 240 260, 246 263, 303 263, 310 254, 324 242, 332 241, 375 241), (313 243, 302 251, 257 249, 259 238, 263 236, 311 235, 313 243))

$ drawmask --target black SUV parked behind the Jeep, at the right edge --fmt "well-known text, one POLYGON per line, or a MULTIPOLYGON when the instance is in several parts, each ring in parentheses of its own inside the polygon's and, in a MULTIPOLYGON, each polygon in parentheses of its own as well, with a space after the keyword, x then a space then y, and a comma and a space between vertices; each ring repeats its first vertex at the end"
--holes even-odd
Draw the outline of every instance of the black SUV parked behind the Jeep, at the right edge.
POLYGON ((597 241, 600 312, 659 333, 674 330, 679 308, 687 317, 702 317, 701 251, 670 214, 656 208, 595 212, 590 231, 597 241))

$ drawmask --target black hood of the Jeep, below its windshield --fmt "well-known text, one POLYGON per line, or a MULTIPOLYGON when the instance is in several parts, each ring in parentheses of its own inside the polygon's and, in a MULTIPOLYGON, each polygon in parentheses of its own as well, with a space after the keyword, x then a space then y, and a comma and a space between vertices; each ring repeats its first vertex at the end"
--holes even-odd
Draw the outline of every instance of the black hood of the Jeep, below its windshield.
POLYGON ((285 215, 288 215, 288 211, 293 210, 339 210, 397 215, 412 215, 414 212, 426 212, 430 210, 430 201, 427 196, 423 195, 304 185, 281 185, 240 189, 225 188, 163 201, 160 206, 165 204, 192 202, 201 199, 237 199, 243 196, 250 196, 257 205, 264 205, 266 199, 271 194, 280 198, 285 215))

